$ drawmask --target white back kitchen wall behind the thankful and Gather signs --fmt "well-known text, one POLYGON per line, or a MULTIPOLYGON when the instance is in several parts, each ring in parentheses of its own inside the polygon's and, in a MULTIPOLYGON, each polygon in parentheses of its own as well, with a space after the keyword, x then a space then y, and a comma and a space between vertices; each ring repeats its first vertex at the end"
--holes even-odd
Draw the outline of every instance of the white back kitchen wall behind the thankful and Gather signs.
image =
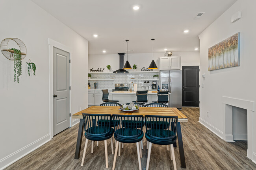
MULTIPOLYGON (((163 57, 164 53, 154 53, 154 60, 158 66, 158 57, 163 57)), ((181 56, 182 66, 199 66, 199 51, 192 52, 173 52, 173 56, 181 56)), ((89 55, 89 69, 105 68, 108 64, 111 65, 113 71, 119 69, 119 55, 118 54, 102 54, 89 55)), ((124 62, 127 60, 127 54, 124 56, 124 62)), ((137 65, 137 70, 141 68, 148 68, 152 61, 152 53, 134 53, 128 54, 128 61, 133 66, 137 65)))

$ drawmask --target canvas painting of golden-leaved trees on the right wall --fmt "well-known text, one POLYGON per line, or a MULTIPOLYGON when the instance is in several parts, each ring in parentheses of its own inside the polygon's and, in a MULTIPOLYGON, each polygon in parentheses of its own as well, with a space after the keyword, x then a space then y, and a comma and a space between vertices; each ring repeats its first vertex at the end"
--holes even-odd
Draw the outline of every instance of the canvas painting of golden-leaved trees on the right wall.
POLYGON ((208 49, 208 71, 240 66, 240 33, 208 49))

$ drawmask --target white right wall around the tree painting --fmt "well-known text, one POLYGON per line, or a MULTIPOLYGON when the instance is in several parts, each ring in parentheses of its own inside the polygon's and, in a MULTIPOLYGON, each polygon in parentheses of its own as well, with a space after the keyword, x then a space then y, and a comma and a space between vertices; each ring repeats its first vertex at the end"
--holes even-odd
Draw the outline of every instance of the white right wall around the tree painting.
MULTIPOLYGON (((200 119, 220 136, 223 135, 222 96, 256 101, 255 6, 254 0, 238 0, 199 35, 200 84, 204 83, 204 88, 200 88, 200 119), (237 22, 231 23, 231 16, 237 11, 242 12, 242 17, 237 22), (208 48, 237 32, 241 33, 240 66, 208 71, 208 48), (206 74, 205 79, 202 78, 203 73, 206 74)), ((252 122, 256 122, 254 112, 252 122)), ((256 141, 256 130, 253 130, 253 141, 256 141)), ((253 152, 256 156, 255 143, 253 152)), ((256 161, 256 159, 253 160, 256 161)))

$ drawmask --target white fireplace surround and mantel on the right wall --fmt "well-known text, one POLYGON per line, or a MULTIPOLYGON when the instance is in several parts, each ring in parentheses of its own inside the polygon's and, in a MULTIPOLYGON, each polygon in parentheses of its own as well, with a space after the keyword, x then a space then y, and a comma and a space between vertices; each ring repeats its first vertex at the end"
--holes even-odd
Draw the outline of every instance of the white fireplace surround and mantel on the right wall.
POLYGON ((223 139, 226 142, 233 140, 232 106, 247 110, 247 157, 256 163, 256 122, 254 112, 254 101, 222 97, 223 103, 223 139))

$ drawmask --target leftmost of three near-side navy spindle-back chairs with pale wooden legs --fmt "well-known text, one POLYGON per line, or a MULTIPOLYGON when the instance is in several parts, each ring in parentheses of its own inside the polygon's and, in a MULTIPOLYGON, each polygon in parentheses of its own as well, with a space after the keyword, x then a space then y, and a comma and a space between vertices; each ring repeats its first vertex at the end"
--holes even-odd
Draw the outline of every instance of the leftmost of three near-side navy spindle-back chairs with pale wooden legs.
POLYGON ((83 113, 83 125, 84 125, 84 131, 85 131, 84 136, 86 138, 86 141, 85 141, 85 146, 83 150, 83 158, 82 158, 81 166, 83 166, 88 140, 91 140, 91 141, 104 141, 106 168, 108 168, 107 139, 111 139, 111 150, 112 150, 112 154, 114 154, 113 139, 112 139, 112 136, 114 134, 114 129, 110 127, 111 119, 112 119, 112 116, 108 114, 83 113), (96 119, 104 120, 104 124, 96 126, 94 121, 96 119))

